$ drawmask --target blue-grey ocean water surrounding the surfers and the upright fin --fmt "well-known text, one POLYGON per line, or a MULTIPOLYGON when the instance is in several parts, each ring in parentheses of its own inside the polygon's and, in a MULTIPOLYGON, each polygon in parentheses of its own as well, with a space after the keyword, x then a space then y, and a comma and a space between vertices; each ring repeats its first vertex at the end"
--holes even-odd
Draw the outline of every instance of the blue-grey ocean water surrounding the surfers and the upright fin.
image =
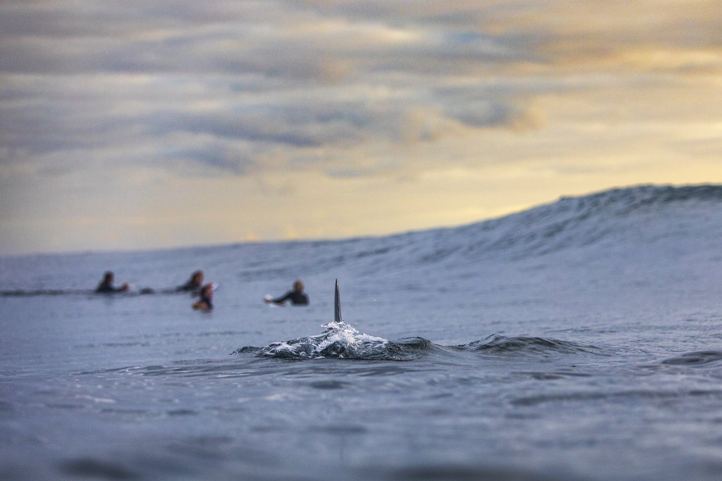
POLYGON ((391 237, 0 257, 0 478, 719 480, 720 239, 722 186, 645 186, 391 237), (165 292, 196 269, 212 312, 165 292), (105 270, 133 290, 92 294, 105 270), (264 304, 296 278, 310 306, 264 304))

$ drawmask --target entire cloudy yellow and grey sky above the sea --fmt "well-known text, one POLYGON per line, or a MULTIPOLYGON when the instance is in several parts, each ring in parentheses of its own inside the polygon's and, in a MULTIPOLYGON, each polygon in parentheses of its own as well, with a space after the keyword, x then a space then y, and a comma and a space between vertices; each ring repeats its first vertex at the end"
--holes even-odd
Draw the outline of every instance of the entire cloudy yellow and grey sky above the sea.
POLYGON ((4 0, 0 254, 722 182, 722 0, 4 0))

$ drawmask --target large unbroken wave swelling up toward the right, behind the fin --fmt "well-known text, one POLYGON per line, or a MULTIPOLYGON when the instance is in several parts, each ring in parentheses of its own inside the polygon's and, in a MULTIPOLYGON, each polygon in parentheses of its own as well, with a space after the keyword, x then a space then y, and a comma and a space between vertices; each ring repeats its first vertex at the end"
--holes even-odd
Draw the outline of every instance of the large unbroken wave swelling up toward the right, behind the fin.
POLYGON ((288 246, 318 247, 304 270, 398 270, 438 262, 516 260, 573 248, 651 247, 722 236, 722 185, 643 185, 563 197, 498 219, 388 237, 288 246))

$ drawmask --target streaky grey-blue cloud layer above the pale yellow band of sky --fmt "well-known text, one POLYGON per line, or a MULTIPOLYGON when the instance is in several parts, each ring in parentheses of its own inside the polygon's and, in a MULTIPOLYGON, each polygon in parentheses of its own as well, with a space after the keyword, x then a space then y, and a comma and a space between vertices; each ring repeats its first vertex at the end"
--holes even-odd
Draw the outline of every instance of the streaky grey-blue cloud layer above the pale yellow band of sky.
POLYGON ((539 99, 719 73, 692 3, 6 1, 0 175, 406 175, 399 149, 545 128, 539 99))

